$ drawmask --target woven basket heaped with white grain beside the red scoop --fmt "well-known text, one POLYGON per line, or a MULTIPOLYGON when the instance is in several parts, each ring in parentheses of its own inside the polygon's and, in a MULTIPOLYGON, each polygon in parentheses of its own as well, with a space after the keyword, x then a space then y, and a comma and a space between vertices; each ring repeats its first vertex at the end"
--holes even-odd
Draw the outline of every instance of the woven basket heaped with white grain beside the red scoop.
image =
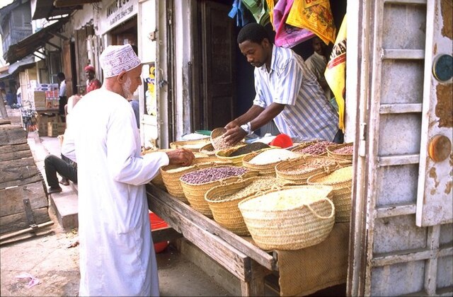
POLYGON ((259 175, 275 177, 275 165, 282 161, 299 157, 299 154, 288 151, 285 148, 269 148, 243 157, 242 165, 251 170, 258 170, 259 175))

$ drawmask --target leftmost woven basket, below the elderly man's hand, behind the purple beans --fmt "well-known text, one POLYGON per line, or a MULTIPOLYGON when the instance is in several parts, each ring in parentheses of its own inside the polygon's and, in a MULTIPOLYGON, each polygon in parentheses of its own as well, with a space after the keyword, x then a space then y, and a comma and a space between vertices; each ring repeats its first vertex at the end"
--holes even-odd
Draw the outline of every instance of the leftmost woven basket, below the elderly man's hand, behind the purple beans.
POLYGON ((207 157, 207 158, 195 158, 192 162, 192 165, 182 167, 180 165, 166 165, 161 167, 161 177, 166 187, 166 190, 176 199, 188 203, 188 200, 185 198, 183 187, 179 181, 179 177, 185 173, 190 173, 195 170, 202 168, 213 167, 217 165, 231 165, 229 161, 222 161, 217 158, 207 157))

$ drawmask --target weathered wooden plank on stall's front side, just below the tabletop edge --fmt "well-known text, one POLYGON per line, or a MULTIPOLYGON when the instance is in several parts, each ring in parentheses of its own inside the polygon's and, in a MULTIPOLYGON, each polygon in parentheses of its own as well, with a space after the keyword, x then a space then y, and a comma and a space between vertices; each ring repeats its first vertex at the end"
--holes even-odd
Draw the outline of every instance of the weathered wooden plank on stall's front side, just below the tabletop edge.
POLYGON ((175 229, 180 230, 185 238, 197 245, 200 250, 225 267, 231 274, 242 281, 249 281, 251 259, 247 255, 233 248, 219 236, 196 226, 178 212, 173 212, 171 217, 165 221, 169 225, 176 226, 175 229))

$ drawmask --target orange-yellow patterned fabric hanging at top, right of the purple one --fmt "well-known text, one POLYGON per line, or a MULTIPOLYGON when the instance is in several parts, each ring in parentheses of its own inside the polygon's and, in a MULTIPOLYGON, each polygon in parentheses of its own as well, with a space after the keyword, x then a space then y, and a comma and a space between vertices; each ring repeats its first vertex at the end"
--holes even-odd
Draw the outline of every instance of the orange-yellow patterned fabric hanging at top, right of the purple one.
POLYGON ((326 45, 335 42, 336 27, 329 0, 294 0, 286 23, 310 30, 326 45))

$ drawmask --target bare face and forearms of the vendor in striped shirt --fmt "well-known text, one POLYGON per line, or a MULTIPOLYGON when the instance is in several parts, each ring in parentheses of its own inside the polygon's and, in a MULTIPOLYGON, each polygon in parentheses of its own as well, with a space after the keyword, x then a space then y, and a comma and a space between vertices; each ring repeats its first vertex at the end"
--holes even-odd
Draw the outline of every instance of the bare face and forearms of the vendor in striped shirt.
MULTIPOLYGON (((273 44, 268 38, 263 39, 260 43, 250 40, 239 43, 239 50, 247 58, 248 63, 254 67, 265 64, 268 71, 270 70, 270 62, 272 62, 272 49, 273 44)), ((285 104, 280 103, 272 103, 266 108, 252 105, 246 113, 226 124, 225 140, 230 144, 237 144, 247 135, 247 132, 241 129, 241 124, 251 122, 251 129, 254 131, 272 121, 283 109, 285 109, 285 104)))

